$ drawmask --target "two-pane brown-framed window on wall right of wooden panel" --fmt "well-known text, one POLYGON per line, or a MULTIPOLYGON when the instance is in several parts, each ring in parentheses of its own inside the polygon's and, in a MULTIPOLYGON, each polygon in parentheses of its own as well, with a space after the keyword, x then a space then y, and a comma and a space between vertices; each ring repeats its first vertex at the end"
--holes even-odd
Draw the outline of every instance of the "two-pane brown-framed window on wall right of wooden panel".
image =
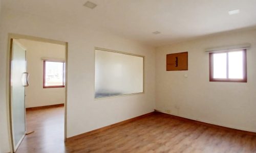
POLYGON ((247 82, 246 49, 209 53, 210 81, 247 82))

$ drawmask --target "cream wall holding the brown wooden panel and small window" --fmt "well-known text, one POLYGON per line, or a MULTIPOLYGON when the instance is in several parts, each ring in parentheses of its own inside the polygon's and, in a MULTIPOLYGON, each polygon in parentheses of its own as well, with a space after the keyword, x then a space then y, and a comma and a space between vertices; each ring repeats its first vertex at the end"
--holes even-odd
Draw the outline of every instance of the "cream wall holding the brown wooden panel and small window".
POLYGON ((156 50, 156 109, 256 132, 256 30, 224 33, 156 50), (248 83, 209 82, 209 47, 250 43, 248 83), (188 71, 166 71, 166 54, 188 52, 188 71), (188 74, 188 78, 184 77, 188 74))

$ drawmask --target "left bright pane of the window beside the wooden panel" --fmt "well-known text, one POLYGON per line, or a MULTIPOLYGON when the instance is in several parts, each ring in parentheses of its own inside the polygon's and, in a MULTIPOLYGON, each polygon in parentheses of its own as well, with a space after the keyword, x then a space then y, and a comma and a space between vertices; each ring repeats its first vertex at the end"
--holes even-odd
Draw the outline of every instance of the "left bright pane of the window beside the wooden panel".
POLYGON ((227 54, 214 54, 214 78, 227 78, 227 54))

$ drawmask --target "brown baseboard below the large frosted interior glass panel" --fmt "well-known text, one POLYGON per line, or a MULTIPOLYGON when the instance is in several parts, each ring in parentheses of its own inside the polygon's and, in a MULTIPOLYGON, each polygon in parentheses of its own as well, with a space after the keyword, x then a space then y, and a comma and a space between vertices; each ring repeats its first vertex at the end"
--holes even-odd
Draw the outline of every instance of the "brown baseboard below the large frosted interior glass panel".
POLYGON ((79 134, 79 135, 76 135, 76 136, 73 136, 73 137, 69 137, 69 138, 66 139, 66 142, 71 142, 71 141, 74 141, 74 140, 77 140, 77 139, 81 139, 83 137, 87 137, 89 135, 92 135, 92 134, 95 134, 95 133, 98 133, 98 132, 101 132, 101 131, 104 131, 104 130, 107 130, 107 129, 111 129, 112 127, 115 127, 115 126, 118 126, 118 125, 121 125, 121 124, 124 124, 124 123, 128 123, 128 122, 131 122, 131 121, 134 121, 134 120, 152 115, 153 113, 155 113, 155 112, 140 115, 140 116, 137 116, 137 117, 134 117, 134 118, 130 118, 130 119, 115 123, 115 124, 111 124, 111 125, 108 125, 108 126, 101 127, 99 129, 96 129, 96 130, 93 130, 93 131, 89 131, 89 132, 86 132, 86 133, 83 133, 83 134, 79 134))

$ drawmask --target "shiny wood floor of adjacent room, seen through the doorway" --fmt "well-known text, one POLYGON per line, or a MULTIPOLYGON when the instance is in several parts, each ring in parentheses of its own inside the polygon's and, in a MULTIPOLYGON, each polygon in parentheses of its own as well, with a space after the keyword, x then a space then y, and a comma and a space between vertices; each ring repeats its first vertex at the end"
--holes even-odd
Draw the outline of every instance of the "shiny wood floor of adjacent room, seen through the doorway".
POLYGON ((18 147, 18 153, 65 152, 64 107, 27 110, 27 132, 18 147))

